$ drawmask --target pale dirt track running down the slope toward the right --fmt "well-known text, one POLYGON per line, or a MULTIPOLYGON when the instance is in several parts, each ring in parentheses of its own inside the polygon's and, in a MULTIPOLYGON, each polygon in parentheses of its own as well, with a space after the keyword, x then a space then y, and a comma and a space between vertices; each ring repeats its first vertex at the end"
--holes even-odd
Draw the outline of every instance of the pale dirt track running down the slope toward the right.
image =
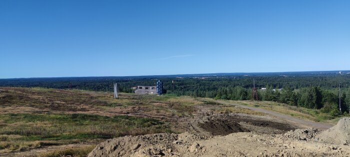
POLYGON ((261 109, 261 108, 254 108, 254 107, 245 106, 245 105, 233 104, 233 103, 229 103, 229 102, 225 102, 225 101, 221 101, 221 100, 216 100, 216 102, 221 103, 221 104, 225 104, 225 105, 238 106, 238 107, 246 108, 246 109, 249 109, 249 110, 253 110, 253 111, 269 114, 269 115, 275 116, 277 118, 287 120, 287 121, 289 121, 291 123, 294 123, 294 124, 303 125, 306 128, 312 127, 312 128, 317 128, 317 129, 320 129, 320 130, 327 130, 330 127, 332 127, 332 125, 330 125, 330 124, 324 124, 324 123, 317 123, 317 122, 311 122, 311 121, 307 121, 307 120, 302 120, 302 119, 298 119, 298 118, 291 117, 291 116, 288 116, 288 115, 279 114, 277 112, 264 110, 264 109, 261 109))

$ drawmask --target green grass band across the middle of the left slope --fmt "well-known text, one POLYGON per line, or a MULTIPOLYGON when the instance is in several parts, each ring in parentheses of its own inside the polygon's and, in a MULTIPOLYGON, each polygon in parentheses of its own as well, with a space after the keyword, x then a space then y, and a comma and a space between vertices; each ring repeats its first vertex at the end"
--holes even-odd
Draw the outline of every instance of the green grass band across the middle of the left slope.
POLYGON ((5 114, 0 135, 18 140, 106 139, 125 135, 171 133, 168 124, 150 118, 85 114, 5 114))

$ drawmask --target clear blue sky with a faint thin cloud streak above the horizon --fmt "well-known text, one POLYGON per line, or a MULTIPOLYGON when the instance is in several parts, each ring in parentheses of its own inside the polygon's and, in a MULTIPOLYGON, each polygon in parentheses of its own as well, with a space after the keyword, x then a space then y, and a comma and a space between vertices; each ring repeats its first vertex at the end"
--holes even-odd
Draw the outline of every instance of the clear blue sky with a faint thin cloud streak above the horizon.
POLYGON ((0 0, 0 78, 350 69, 350 0, 0 0))

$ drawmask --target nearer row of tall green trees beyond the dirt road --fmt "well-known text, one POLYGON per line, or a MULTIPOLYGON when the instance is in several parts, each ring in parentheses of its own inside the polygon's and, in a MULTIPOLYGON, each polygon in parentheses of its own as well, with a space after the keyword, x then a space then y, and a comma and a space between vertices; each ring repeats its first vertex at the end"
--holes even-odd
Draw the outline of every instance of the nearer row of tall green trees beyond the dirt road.
MULTIPOLYGON (((311 86, 300 89, 293 89, 284 86, 280 91, 266 85, 266 89, 257 90, 258 99, 262 101, 274 101, 288 104, 291 106, 300 106, 308 109, 318 109, 322 113, 329 113, 331 116, 337 116, 339 110, 339 90, 322 89, 311 86)), ((223 87, 217 90, 215 99, 226 100, 251 100, 252 89, 242 87, 223 87)), ((340 108, 344 113, 349 113, 350 109, 350 88, 342 89, 340 94, 340 108)))

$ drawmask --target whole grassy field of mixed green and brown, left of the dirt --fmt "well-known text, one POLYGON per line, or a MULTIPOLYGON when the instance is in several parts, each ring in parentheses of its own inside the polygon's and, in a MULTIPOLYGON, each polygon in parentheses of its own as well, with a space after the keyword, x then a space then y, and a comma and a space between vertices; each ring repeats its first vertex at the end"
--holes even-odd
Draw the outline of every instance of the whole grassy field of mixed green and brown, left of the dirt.
MULTIPOLYGON (((198 105, 217 104, 192 97, 120 93, 118 99, 113 99, 112 93, 105 92, 1 87, 0 153, 80 143, 94 145, 125 135, 173 133, 177 131, 170 125, 171 119, 191 115, 198 105)), ((59 150, 40 156, 88 149, 59 150)))

